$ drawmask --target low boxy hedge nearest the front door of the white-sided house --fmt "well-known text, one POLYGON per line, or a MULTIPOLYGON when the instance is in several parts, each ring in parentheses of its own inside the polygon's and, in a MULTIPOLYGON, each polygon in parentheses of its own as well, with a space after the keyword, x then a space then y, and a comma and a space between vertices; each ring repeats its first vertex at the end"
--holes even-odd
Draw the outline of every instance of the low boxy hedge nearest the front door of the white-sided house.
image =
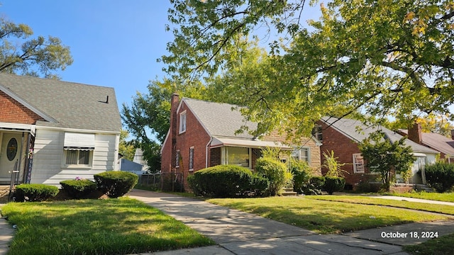
POLYGON ((19 184, 14 197, 17 202, 41 202, 57 196, 58 188, 45 184, 19 184))

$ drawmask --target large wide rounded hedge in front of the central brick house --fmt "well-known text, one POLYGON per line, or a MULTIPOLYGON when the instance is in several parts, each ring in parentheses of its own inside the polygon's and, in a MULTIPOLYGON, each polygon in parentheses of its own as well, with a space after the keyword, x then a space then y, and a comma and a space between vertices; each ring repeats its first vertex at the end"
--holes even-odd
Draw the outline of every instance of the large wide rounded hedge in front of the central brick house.
POLYGON ((219 165, 196 171, 187 178, 196 196, 242 198, 262 196, 269 181, 242 166, 219 165))

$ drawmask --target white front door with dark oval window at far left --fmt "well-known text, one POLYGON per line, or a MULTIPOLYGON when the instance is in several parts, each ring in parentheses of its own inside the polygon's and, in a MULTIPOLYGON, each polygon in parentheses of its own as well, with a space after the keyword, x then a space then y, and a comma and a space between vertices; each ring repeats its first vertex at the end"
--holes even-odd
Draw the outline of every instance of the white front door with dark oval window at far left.
MULTIPOLYGON (((1 135, 1 134, 0 134, 1 135)), ((11 172, 14 169, 14 164, 21 161, 22 133, 4 132, 1 139, 0 148, 0 181, 10 181, 11 172)), ((21 162, 21 168, 23 162, 21 162)))

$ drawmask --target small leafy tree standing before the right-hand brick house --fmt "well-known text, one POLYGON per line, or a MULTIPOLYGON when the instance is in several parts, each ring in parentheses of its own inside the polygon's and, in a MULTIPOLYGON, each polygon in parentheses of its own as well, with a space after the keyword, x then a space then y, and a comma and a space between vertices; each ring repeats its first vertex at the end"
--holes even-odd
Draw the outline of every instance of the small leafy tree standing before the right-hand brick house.
POLYGON ((411 147, 405 147, 405 138, 392 142, 383 132, 374 132, 369 138, 360 142, 358 147, 367 162, 370 171, 380 173, 384 188, 389 191, 392 181, 392 170, 396 174, 406 174, 416 160, 411 147))

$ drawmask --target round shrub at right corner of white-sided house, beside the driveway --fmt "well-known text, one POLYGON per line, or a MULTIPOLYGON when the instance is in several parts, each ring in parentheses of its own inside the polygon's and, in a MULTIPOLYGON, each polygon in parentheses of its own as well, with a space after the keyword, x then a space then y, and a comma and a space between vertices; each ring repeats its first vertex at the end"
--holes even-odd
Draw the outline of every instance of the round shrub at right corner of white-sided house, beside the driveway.
POLYGON ((99 191, 109 198, 119 198, 131 191, 139 177, 126 171, 105 171, 94 175, 99 191))

